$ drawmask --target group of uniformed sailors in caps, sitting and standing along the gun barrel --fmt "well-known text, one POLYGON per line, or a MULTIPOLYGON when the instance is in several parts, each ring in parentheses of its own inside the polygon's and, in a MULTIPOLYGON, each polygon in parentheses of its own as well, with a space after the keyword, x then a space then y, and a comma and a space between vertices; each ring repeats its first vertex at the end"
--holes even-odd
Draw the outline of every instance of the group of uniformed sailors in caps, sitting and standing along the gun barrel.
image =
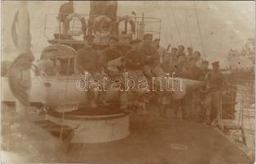
MULTIPOLYGON (((92 47, 93 38, 86 39, 85 48, 77 52, 77 68, 80 73, 89 72, 89 75, 108 77, 122 77, 127 72, 130 78, 138 80, 146 77, 164 76, 167 73, 174 74, 190 80, 200 80, 203 85, 199 89, 187 91, 184 98, 171 98, 171 94, 162 92, 158 94, 162 107, 159 109, 160 116, 166 117, 168 109, 171 107, 174 117, 177 117, 179 110, 182 118, 194 119, 196 121, 206 121, 211 124, 217 118, 217 112, 221 106, 222 84, 226 83, 221 71, 219 62, 213 62, 213 69, 209 69, 209 62, 204 61, 200 52, 194 52, 193 48, 180 45, 178 48, 171 48, 168 52, 162 48, 160 39, 154 39, 152 34, 144 34, 144 40, 134 39, 130 41, 131 49, 123 54, 118 48, 118 37, 112 36, 109 39, 109 47, 100 54, 92 47)), ((141 96, 139 90, 136 96, 141 96)), ((94 95, 98 92, 94 91, 94 95)), ((91 102, 96 106, 95 98, 91 102)), ((121 92, 121 108, 126 109, 126 92, 121 92)), ((102 98, 103 103, 107 104, 102 98)))

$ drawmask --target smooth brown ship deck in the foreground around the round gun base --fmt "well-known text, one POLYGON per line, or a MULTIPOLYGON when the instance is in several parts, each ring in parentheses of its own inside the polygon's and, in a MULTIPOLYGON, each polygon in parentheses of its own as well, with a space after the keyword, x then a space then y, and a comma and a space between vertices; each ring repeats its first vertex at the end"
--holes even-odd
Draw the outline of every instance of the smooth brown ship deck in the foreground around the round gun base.
MULTIPOLYGON (((69 151, 54 162, 252 163, 213 126, 181 118, 162 119, 156 109, 152 105, 145 115, 131 114, 130 135, 126 139, 103 144, 70 144, 69 151)), ((44 156, 37 162, 53 161, 44 156)))

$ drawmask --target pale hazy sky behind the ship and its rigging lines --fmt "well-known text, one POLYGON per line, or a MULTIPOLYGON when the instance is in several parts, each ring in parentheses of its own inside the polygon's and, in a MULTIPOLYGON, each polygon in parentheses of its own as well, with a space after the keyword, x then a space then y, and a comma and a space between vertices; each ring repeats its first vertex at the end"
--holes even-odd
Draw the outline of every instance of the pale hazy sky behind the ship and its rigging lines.
MULTIPOLYGON (((48 15, 48 26, 57 25, 53 14, 56 14, 61 3, 65 1, 30 1, 28 9, 31 20, 32 51, 39 57, 39 52, 48 45, 47 39, 53 35, 46 30, 43 34, 45 16, 48 15), (51 19, 49 19, 51 17, 51 19), (52 21, 49 21, 52 20, 52 21)), ((16 54, 5 52, 13 48, 11 40, 11 21, 20 5, 19 1, 1 2, 1 38, 2 58, 12 60, 16 54)), ((161 44, 167 48, 183 44, 192 45, 194 50, 202 53, 210 62, 220 61, 227 66, 227 52, 240 49, 246 39, 255 36, 255 2, 254 1, 121 1, 118 2, 119 16, 155 17, 161 19, 161 44), (196 10, 195 10, 196 8, 196 10), (197 12, 199 24, 195 11, 197 12), (201 38, 199 34, 201 31, 201 38), (203 45, 202 45, 203 41, 203 45), (204 51, 203 51, 204 49, 204 51)), ((89 14, 89 1, 75 2, 75 12, 89 14)), ((146 28, 157 30, 158 25, 150 23, 146 28)), ((53 32, 53 31, 52 31, 53 32)))

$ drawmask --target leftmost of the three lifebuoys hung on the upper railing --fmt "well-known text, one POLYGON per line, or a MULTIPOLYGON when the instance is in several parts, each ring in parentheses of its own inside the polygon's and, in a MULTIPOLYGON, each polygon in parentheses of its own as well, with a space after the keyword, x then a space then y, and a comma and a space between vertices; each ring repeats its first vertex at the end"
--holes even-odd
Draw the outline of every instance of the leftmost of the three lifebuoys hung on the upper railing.
MULTIPOLYGON (((85 36, 86 35, 86 30, 87 30, 87 25, 86 25, 85 18, 83 16, 77 14, 77 13, 71 13, 70 15, 66 16, 66 20, 64 22, 65 32, 68 33, 68 31, 70 30, 70 22, 74 17, 77 17, 78 19, 80 19, 80 22, 82 24, 81 30, 82 30, 82 32, 85 36)), ((77 34, 77 35, 80 35, 80 34, 77 34)))

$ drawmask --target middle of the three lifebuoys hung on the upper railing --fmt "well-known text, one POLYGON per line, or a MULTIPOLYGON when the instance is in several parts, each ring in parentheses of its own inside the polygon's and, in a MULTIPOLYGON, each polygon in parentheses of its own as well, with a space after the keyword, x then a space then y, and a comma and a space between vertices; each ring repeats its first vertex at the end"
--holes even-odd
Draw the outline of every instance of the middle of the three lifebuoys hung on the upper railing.
MULTIPOLYGON (((110 24, 111 19, 107 16, 98 16, 95 18, 94 22, 93 22, 93 30, 94 32, 99 32, 102 33, 103 31, 103 25, 105 25, 106 23, 110 24)), ((108 31, 110 30, 111 25, 109 25, 108 31)))

